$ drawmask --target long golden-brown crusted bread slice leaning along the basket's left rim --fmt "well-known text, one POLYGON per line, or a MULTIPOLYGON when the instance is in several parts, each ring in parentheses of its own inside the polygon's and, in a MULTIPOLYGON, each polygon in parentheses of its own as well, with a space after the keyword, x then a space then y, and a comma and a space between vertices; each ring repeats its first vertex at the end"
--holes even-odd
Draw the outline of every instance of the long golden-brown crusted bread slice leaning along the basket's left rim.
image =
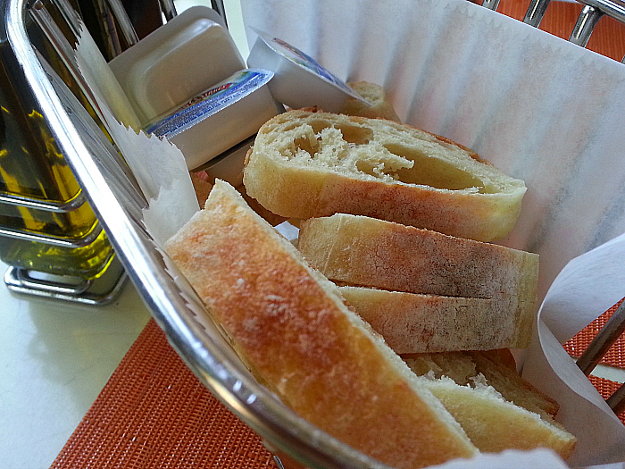
POLYGON ((165 246, 235 348, 298 415, 396 467, 476 449, 445 407, 287 239, 216 181, 165 246))

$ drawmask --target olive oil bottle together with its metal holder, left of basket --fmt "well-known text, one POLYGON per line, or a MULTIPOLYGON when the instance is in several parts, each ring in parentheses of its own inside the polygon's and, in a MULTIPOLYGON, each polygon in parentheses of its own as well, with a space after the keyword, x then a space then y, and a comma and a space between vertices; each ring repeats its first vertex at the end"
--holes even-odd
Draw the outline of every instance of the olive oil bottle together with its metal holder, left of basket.
MULTIPOLYGON (((117 1, 112 0, 112 4, 117 1)), ((20 293, 104 304, 120 292, 127 275, 18 66, 8 39, 9 6, 0 2, 0 64, 4 75, 0 95, 4 114, 0 136, 0 257, 10 265, 4 282, 20 293)), ((32 14, 24 21, 38 50, 76 88, 75 79, 63 69, 58 46, 63 32, 43 4, 30 5, 29 12, 32 14)), ((126 42, 132 44, 128 23, 116 22, 121 24, 117 28, 126 42)))

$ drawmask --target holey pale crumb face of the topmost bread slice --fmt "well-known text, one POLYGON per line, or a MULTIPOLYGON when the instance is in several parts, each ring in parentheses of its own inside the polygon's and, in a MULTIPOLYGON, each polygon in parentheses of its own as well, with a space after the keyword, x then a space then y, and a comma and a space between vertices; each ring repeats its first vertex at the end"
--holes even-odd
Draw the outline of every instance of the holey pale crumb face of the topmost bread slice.
POLYGON ((504 174, 471 151, 423 130, 328 113, 289 114, 262 130, 262 144, 296 165, 467 193, 496 193, 512 182, 497 180, 504 174))

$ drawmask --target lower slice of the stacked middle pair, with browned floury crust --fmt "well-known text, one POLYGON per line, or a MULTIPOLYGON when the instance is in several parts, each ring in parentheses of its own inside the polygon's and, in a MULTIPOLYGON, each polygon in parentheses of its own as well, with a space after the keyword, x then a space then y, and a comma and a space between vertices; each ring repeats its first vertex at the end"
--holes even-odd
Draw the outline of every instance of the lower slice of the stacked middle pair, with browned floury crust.
MULTIPOLYGON (((485 298, 339 287, 341 295, 398 354, 526 348, 530 327, 485 298)), ((529 311, 529 310, 528 310, 529 311)))

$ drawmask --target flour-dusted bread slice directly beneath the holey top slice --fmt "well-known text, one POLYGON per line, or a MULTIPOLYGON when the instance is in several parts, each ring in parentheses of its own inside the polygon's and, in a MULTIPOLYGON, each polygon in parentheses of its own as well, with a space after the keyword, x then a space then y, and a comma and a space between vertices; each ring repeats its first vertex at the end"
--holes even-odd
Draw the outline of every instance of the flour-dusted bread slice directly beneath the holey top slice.
MULTIPOLYGON (((513 338, 518 348, 529 343, 537 302, 536 254, 350 214, 302 222, 298 247, 332 281, 490 299, 493 337, 513 338)), ((488 348, 501 348, 492 345, 488 348)))

